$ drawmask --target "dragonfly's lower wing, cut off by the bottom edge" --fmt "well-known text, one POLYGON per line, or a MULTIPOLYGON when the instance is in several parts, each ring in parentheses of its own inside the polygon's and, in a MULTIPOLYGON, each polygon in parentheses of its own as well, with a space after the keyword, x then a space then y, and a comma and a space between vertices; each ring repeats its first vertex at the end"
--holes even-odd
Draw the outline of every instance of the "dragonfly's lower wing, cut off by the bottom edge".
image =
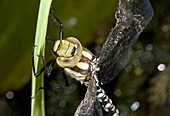
POLYGON ((74 116, 103 116, 100 103, 96 99, 96 83, 92 78, 89 81, 89 86, 85 94, 85 98, 81 101, 77 107, 74 116))

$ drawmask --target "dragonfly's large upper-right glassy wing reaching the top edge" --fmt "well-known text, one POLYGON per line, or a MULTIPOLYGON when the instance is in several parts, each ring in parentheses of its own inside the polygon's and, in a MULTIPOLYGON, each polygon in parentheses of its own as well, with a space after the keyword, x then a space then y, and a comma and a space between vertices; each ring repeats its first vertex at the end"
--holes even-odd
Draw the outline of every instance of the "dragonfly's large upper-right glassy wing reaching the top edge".
POLYGON ((149 0, 119 0, 116 26, 103 45, 98 63, 99 80, 111 81, 127 64, 129 48, 153 16, 149 0))

